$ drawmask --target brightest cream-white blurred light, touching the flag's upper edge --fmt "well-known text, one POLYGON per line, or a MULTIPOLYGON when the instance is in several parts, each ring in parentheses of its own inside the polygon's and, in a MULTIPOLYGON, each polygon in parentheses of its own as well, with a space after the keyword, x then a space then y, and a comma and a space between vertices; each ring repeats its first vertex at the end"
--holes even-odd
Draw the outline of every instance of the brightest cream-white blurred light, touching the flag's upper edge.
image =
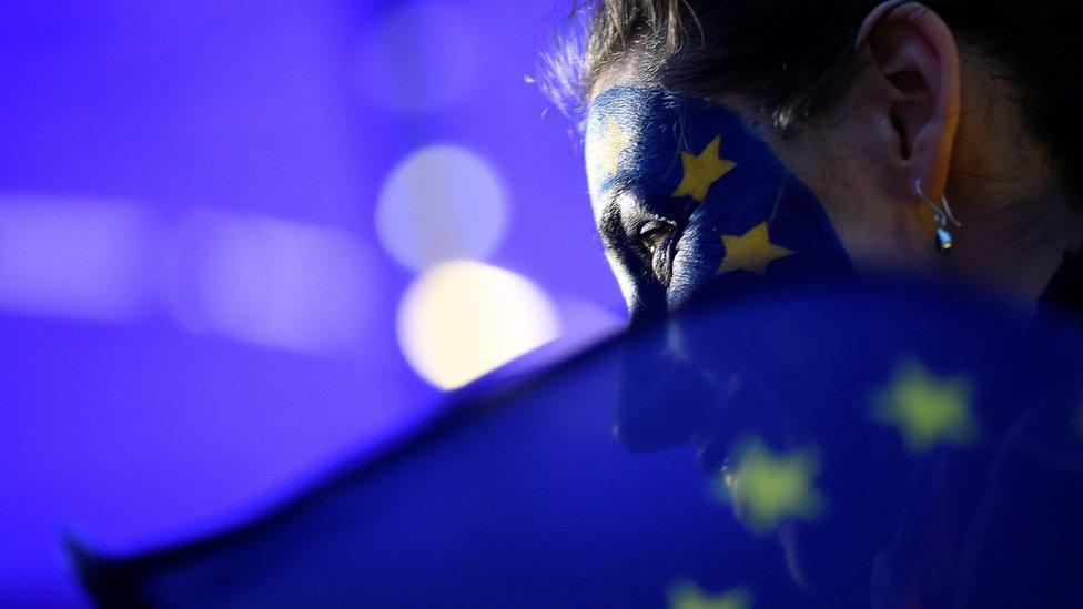
POLYGON ((406 291, 397 329, 411 366, 436 387, 453 389, 556 338, 560 322, 549 298, 525 277, 451 261, 406 291))

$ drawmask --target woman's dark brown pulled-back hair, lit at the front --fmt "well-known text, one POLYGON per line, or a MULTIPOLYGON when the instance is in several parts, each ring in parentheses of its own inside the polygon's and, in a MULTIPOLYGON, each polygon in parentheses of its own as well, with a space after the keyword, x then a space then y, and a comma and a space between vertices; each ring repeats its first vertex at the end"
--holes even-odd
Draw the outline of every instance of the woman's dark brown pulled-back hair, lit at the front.
MULTIPOLYGON (((857 68, 854 39, 879 0, 575 0, 549 92, 581 110, 599 75, 758 103, 783 134, 823 109, 857 68), (635 57, 635 62, 626 61, 635 57), (632 65, 634 64, 634 65, 632 65)), ((902 2, 900 2, 902 3, 902 2)), ((928 0, 960 45, 994 60, 1059 174, 1083 185, 1083 2, 928 0)))

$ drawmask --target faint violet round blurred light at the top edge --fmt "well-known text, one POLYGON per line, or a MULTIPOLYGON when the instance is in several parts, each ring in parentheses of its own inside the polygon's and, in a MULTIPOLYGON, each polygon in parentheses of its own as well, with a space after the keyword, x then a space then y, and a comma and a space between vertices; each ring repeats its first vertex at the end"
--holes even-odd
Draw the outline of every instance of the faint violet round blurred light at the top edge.
POLYGON ((364 32, 360 88, 399 112, 446 108, 469 92, 477 75, 476 32, 459 3, 402 3, 364 32))

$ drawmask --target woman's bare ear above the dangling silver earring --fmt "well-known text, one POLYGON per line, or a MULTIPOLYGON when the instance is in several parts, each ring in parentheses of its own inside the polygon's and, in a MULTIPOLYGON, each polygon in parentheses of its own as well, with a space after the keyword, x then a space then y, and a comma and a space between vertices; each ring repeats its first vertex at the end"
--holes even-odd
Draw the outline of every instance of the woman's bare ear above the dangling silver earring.
POLYGON ((960 113, 960 62, 951 30, 919 2, 890 0, 873 9, 857 38, 874 61, 874 87, 883 100, 898 138, 898 151, 890 151, 894 175, 885 176, 900 187, 913 189, 921 181, 924 194, 939 199, 948 182, 952 144, 960 113))

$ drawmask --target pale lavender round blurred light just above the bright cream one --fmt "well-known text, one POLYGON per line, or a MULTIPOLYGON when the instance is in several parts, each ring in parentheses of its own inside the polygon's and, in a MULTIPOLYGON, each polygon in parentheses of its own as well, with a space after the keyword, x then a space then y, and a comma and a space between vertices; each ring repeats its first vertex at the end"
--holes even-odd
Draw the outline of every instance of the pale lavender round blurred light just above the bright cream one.
POLYGON ((415 271, 485 258, 506 229, 507 202, 496 172, 458 146, 432 145, 408 156, 384 183, 376 205, 381 242, 415 271))

